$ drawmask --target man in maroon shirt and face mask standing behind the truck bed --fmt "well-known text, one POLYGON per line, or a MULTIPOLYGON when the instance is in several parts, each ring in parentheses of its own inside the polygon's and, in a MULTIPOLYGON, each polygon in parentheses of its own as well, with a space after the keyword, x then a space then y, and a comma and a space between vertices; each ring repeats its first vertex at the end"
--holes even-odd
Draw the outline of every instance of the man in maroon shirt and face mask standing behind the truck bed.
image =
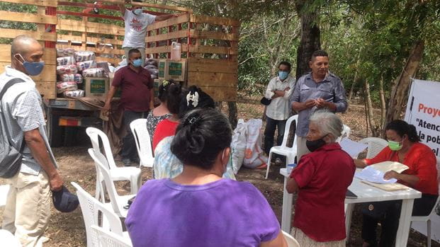
POLYGON ((127 127, 127 135, 123 138, 123 149, 120 151, 125 166, 130 166, 131 162, 138 163, 139 159, 135 138, 130 130, 130 122, 146 117, 148 111, 153 108, 154 100, 153 79, 147 69, 142 68, 140 51, 130 50, 128 61, 128 66, 116 71, 107 94, 106 105, 103 108, 103 113, 108 113, 111 108, 111 99, 120 88, 120 104, 124 109, 124 125, 127 127))

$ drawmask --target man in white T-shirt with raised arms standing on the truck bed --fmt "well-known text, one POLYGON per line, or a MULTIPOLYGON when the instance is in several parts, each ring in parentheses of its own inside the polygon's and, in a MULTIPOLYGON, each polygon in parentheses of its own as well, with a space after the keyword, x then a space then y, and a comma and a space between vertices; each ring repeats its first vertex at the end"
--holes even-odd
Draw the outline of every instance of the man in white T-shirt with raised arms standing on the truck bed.
MULTIPOLYGON (((142 0, 133 0, 135 2, 142 2, 142 0)), ((125 3, 130 4, 130 0, 125 0, 125 3)), ((154 23, 154 21, 165 21, 169 18, 175 17, 173 14, 154 16, 150 13, 143 13, 142 6, 132 6, 131 11, 125 8, 124 4, 119 5, 120 13, 122 13, 125 22, 125 34, 123 49, 125 57, 128 62, 128 51, 137 49, 142 56, 142 67, 145 63, 145 36, 147 35, 147 26, 154 23)))

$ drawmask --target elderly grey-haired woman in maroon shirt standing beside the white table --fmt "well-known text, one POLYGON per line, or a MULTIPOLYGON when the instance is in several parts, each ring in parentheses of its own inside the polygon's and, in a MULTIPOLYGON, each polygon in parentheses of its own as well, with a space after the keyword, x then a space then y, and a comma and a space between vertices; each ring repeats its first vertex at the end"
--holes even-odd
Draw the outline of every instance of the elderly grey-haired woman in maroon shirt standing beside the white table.
POLYGON ((286 188, 298 192, 291 234, 300 246, 345 246, 344 200, 356 167, 335 142, 342 128, 329 111, 310 116, 306 144, 311 153, 301 157, 286 188))

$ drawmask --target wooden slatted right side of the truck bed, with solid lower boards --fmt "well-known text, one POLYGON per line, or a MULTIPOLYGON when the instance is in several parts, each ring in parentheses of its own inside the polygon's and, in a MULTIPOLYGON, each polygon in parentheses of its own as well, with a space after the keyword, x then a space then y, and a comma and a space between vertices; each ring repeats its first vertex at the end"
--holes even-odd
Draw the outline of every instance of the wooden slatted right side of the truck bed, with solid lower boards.
POLYGON ((147 27, 145 53, 170 58, 171 42, 180 42, 187 59, 186 85, 201 87, 216 101, 235 101, 238 28, 233 19, 183 14, 147 27))

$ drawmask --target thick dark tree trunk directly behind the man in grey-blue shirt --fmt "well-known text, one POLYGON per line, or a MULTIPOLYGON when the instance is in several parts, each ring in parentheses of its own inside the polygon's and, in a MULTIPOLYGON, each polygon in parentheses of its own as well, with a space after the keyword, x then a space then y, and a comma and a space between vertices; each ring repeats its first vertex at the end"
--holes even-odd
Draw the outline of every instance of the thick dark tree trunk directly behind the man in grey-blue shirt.
POLYGON ((297 51, 296 79, 310 71, 309 61, 315 50, 320 50, 320 27, 317 9, 309 10, 308 1, 296 1, 296 10, 301 20, 301 40, 297 51))

